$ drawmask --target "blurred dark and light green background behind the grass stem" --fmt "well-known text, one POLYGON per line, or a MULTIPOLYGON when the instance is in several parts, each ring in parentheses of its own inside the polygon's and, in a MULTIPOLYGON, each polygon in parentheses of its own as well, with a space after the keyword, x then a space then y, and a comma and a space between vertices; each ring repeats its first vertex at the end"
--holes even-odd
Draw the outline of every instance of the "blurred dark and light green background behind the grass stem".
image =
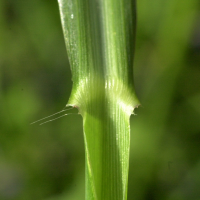
MULTIPOLYGON (((200 1, 137 4, 128 199, 199 200, 200 1)), ((84 199, 82 117, 30 125, 71 88, 57 1, 1 0, 0 200, 84 199)))

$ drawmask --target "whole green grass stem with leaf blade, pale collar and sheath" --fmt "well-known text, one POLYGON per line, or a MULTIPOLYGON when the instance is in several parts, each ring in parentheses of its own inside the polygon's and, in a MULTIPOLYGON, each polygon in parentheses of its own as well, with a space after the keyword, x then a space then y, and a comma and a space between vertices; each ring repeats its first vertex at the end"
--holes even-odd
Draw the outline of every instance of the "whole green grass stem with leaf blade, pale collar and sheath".
POLYGON ((134 0, 58 0, 72 70, 68 105, 83 117, 86 199, 127 199, 134 0))

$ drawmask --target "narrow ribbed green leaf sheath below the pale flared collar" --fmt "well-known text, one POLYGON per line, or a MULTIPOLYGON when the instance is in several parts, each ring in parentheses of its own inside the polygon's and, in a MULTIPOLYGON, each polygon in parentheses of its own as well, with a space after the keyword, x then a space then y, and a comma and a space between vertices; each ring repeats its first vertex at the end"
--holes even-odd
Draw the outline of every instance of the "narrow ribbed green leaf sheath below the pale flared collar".
POLYGON ((129 115, 106 104, 98 110, 103 104, 94 105, 95 112, 84 115, 86 199, 122 200, 127 195, 129 115))

